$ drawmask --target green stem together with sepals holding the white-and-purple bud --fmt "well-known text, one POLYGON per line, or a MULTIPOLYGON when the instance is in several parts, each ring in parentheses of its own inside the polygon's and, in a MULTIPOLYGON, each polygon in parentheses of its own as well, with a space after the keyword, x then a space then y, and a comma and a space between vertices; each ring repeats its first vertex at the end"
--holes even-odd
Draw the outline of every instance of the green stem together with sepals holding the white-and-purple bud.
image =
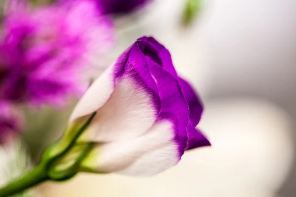
POLYGON ((65 181, 74 177, 79 171, 80 163, 91 151, 93 143, 79 145, 78 155, 74 157, 74 162, 68 164, 65 158, 67 160, 67 154, 73 149, 76 140, 90 124, 95 114, 93 113, 82 127, 74 132, 73 136, 64 136, 60 141, 49 146, 37 166, 0 189, 0 197, 17 194, 46 180, 65 181))

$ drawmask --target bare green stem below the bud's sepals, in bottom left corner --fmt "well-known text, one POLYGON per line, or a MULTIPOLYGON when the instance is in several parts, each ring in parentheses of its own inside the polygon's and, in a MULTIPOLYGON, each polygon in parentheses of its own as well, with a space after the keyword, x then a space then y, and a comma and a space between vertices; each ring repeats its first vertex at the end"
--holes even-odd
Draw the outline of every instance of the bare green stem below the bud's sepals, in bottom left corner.
POLYGON ((6 186, 0 189, 0 197, 9 197, 11 195, 22 192, 29 189, 37 184, 47 180, 46 170, 43 164, 38 164, 35 168, 29 171, 24 176, 21 176, 6 186))

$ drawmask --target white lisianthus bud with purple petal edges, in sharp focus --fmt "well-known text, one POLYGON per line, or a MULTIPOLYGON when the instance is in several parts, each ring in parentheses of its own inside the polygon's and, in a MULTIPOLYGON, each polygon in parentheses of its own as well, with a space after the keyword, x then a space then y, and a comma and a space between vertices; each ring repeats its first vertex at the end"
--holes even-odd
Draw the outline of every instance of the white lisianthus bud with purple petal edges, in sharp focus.
POLYGON ((202 111, 169 51, 153 37, 141 37, 80 99, 65 137, 74 136, 71 128, 92 114, 73 149, 94 143, 81 168, 153 175, 177 164, 185 150, 210 145, 195 129, 202 111))

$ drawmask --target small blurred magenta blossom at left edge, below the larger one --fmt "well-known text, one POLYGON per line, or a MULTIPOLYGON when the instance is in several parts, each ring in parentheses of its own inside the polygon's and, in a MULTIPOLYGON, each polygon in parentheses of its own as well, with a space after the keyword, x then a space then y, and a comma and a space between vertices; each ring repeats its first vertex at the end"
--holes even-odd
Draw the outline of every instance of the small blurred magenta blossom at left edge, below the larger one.
POLYGON ((0 144, 21 130, 19 112, 9 103, 0 101, 0 144))

